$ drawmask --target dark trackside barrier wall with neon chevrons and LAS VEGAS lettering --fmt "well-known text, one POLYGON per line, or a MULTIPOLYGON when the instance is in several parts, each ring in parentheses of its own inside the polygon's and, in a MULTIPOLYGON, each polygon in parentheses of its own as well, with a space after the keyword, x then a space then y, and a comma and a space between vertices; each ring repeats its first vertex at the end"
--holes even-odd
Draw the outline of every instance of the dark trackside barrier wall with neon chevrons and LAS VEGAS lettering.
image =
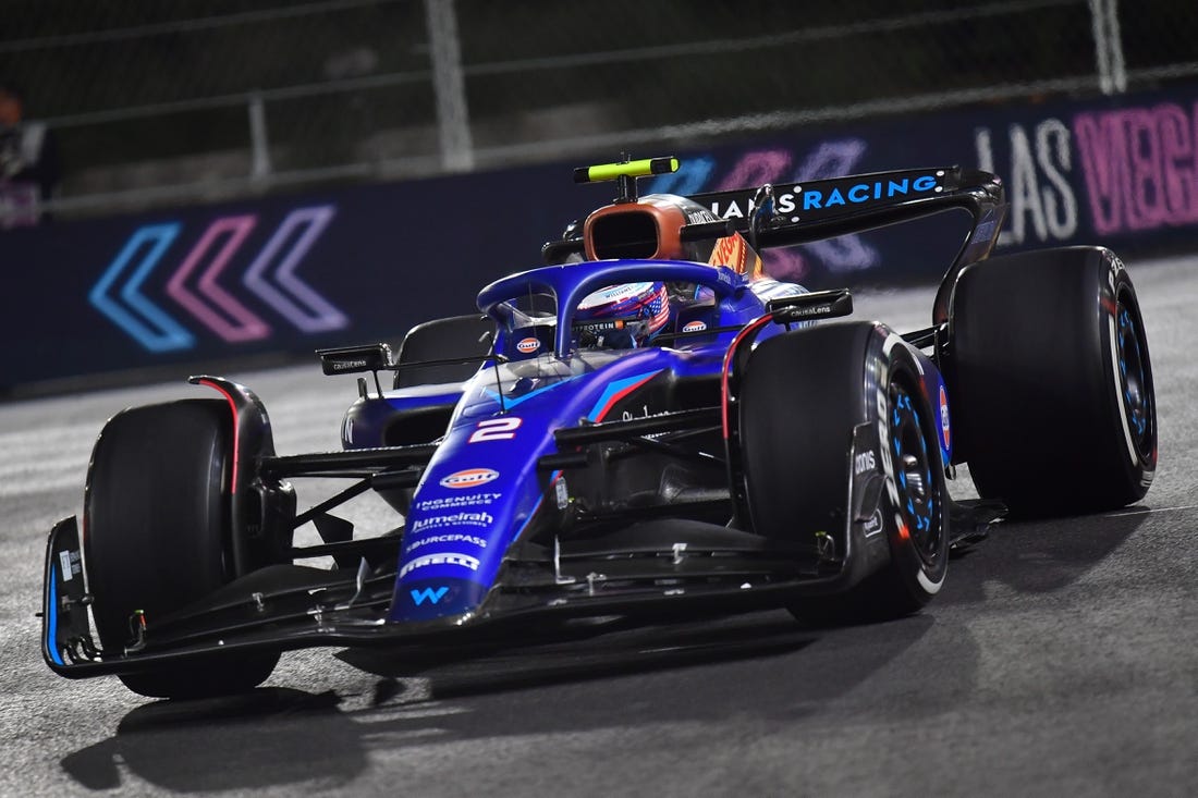
MULTIPOLYGON (((961 164, 1006 183, 1003 250, 1198 246, 1198 87, 824 126, 676 155, 683 169, 642 181, 642 193, 772 182, 781 210, 801 217, 801 201, 816 201, 798 199, 805 180, 961 164)), ((198 363, 398 343, 417 322, 471 312, 482 285, 539 265, 544 241, 613 195, 611 185, 574 186, 574 165, 0 232, 0 391, 131 369, 182 376, 198 363)), ((815 288, 927 282, 963 231, 963 219, 938 217, 773 252, 769 268, 815 288)))

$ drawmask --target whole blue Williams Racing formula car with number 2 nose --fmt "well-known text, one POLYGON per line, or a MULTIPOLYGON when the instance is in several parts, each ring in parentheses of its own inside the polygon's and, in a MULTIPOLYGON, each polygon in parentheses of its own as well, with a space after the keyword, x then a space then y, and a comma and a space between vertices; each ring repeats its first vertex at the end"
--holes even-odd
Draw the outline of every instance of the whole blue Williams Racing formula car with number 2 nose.
POLYGON ((326 374, 374 374, 343 451, 277 455, 261 401, 213 376, 192 382, 217 398, 110 419, 81 534, 69 518, 49 537, 50 669, 186 697, 253 688, 310 646, 401 658, 769 607, 883 619, 931 600, 950 546, 1004 509, 1144 496, 1152 376, 1109 250, 988 259, 1005 206, 979 171, 637 197, 637 177, 676 168, 579 170, 619 195, 547 243, 547 266, 417 326, 397 357, 322 351, 326 374), (712 211, 731 204, 748 212, 712 211), (763 248, 949 208, 973 224, 927 328, 824 321, 851 313, 847 290, 763 273, 763 248), (1034 447, 1053 452, 1051 485, 1034 447), (961 463, 980 501, 950 497, 961 463), (307 478, 347 486, 297 512, 307 478), (388 528, 333 514, 368 491, 388 528), (305 525, 319 544, 296 544, 305 525))

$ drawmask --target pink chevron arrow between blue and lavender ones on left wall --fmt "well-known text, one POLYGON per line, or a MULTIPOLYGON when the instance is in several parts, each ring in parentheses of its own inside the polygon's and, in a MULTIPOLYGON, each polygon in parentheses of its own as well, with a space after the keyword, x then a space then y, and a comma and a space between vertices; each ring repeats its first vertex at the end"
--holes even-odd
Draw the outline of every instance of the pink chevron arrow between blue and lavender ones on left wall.
POLYGON ((241 247, 246 236, 258 224, 255 214, 223 217, 208 225, 192 252, 183 259, 182 266, 167 283, 167 294, 195 316, 205 327, 226 341, 246 341, 266 338, 270 326, 237 302, 228 291, 217 284, 217 278, 229 264, 234 253, 241 247), (196 280, 196 294, 188 290, 186 283, 200 260, 208 254, 220 236, 228 236, 212 262, 208 264, 200 279, 196 280))

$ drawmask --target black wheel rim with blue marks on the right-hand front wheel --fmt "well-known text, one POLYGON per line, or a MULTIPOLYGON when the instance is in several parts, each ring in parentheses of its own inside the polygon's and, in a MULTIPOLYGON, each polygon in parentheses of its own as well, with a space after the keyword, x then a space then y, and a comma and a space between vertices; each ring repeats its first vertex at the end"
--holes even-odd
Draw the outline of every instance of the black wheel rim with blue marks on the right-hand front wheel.
POLYGON ((889 421, 898 491, 898 534, 909 538, 920 558, 933 566, 940 552, 939 489, 919 411, 907 389, 897 383, 890 386, 889 421))

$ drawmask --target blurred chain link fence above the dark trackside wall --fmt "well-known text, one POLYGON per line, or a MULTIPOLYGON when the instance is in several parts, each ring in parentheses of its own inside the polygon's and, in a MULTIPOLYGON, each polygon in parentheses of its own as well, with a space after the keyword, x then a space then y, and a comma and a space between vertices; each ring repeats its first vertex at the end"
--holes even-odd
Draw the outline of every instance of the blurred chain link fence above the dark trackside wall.
POLYGON ((0 0, 68 217, 1198 78, 1173 0, 0 0), (1118 4, 1118 5, 1117 5, 1118 4))

